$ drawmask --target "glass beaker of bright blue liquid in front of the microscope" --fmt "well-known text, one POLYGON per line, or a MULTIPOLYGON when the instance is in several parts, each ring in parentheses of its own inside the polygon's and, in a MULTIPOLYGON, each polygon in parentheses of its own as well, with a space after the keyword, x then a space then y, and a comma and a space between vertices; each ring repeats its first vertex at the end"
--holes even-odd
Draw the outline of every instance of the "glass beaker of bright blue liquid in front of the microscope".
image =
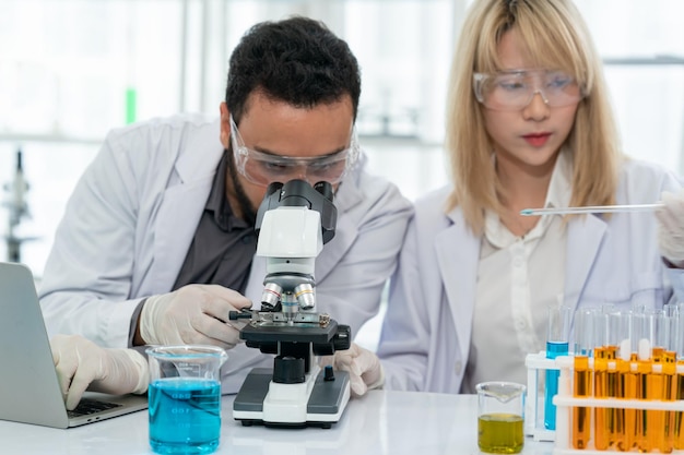
POLYGON ((210 454, 221 435, 221 366, 215 346, 157 346, 150 362, 150 445, 158 454, 210 454))

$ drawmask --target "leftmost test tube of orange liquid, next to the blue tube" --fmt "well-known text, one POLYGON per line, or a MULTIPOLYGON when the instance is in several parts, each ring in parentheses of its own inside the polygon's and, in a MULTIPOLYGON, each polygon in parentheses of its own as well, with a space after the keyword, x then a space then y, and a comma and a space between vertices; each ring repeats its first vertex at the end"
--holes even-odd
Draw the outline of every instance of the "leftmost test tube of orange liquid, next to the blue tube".
MULTIPOLYGON (((573 378, 573 395, 579 398, 592 396, 592 376, 589 358, 593 349, 593 312, 592 309, 579 309, 575 312, 575 364, 573 378)), ((577 450, 587 448, 591 436, 591 409, 573 408, 571 443, 577 450)))

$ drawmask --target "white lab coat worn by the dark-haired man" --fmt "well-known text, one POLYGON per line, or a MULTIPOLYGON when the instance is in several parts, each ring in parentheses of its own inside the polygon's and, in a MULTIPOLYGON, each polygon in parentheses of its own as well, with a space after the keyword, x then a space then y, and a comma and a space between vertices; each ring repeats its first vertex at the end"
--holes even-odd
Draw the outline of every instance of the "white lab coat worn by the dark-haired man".
MULTIPOLYGON (((48 258, 40 303, 50 336, 81 334, 126 347, 144 297, 172 289, 192 241, 223 146, 219 120, 176 116, 115 130, 80 179, 48 258)), ((355 334, 378 311, 412 207, 398 189, 357 166, 340 185, 334 238, 316 260, 317 311, 355 334)), ((264 259, 255 256, 245 295, 260 301, 264 259)), ((224 393, 267 356, 228 352, 224 393), (237 374, 233 374, 237 372, 237 374)))

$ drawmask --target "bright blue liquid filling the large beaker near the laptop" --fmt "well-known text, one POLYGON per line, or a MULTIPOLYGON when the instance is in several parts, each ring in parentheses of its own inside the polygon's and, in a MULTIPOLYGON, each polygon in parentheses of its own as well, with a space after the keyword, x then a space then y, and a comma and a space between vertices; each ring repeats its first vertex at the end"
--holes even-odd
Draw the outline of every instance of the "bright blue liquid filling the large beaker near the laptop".
POLYGON ((150 445, 158 454, 210 454, 221 434, 221 384, 172 378, 150 384, 150 445))

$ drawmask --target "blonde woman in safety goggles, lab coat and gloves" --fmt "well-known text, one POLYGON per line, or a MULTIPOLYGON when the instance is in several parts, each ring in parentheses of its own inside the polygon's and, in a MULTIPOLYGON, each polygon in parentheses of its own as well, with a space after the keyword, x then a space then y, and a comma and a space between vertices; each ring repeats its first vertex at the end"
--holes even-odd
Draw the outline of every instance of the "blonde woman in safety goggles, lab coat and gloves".
POLYGON ((416 202, 378 359, 339 354, 356 394, 524 383, 546 308, 684 301, 684 192, 621 153, 601 62, 570 0, 476 0, 453 57, 452 184, 416 202), (665 204, 521 216, 526 207, 665 204), (385 378, 382 378, 385 376, 385 378))

